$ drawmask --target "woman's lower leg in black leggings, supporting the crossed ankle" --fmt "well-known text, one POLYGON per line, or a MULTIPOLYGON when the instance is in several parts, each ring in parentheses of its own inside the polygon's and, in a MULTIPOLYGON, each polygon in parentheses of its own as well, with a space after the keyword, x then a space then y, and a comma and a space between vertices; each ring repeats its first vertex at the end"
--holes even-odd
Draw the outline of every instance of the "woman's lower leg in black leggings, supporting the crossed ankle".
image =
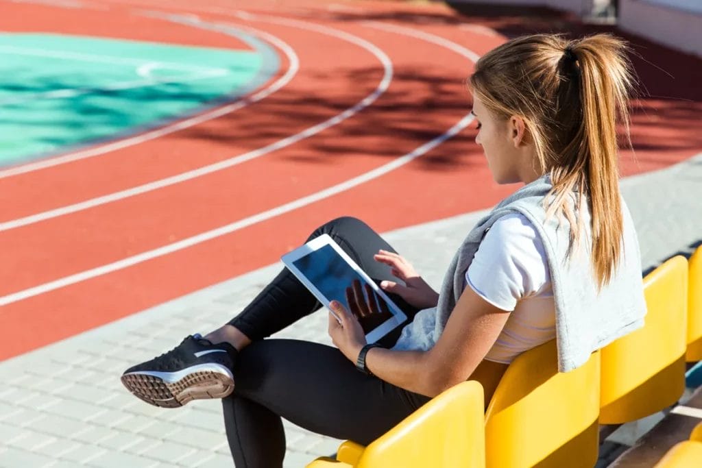
POLYGON ((333 347, 299 340, 253 342, 234 366, 237 386, 223 400, 236 466, 280 467, 280 417, 312 432, 363 445, 430 400, 360 373, 333 347))

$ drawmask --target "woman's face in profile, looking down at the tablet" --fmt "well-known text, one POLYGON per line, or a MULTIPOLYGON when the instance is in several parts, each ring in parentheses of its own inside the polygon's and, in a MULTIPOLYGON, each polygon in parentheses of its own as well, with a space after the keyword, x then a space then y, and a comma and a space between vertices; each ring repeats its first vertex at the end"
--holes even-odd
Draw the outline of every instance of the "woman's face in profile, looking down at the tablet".
POLYGON ((511 138, 512 131, 508 119, 498 119, 486 109, 477 96, 473 96, 473 115, 478 121, 475 142, 482 146, 492 177, 498 184, 512 184, 522 181, 519 177, 519 152, 511 138))

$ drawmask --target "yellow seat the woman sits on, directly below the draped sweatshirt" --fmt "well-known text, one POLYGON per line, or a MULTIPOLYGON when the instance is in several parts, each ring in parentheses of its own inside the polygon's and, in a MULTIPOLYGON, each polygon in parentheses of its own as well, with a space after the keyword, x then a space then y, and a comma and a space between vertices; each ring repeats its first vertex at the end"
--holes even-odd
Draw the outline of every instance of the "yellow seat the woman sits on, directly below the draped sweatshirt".
POLYGON ((529 349, 512 361, 487 408, 486 466, 592 468, 599 412, 600 352, 559 373, 555 340, 529 349))

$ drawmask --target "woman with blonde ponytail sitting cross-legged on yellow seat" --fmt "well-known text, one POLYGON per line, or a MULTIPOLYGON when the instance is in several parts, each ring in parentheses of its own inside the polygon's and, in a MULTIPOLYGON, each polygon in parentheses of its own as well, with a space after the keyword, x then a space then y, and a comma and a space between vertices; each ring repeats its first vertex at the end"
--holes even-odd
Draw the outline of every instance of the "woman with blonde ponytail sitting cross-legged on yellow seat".
POLYGON ((496 182, 524 187, 468 234, 440 293, 359 220, 310 236, 332 236, 406 312, 380 346, 334 303, 338 349, 263 340, 320 307, 284 270, 227 325, 127 370, 126 387, 157 406, 223 398, 236 466, 279 467, 281 417, 367 444, 463 380, 481 382, 489 401, 508 364, 543 342, 558 337, 565 372, 641 326, 639 247, 618 190, 616 123, 628 124, 633 87, 626 51, 608 34, 538 34, 477 62, 475 141, 496 182))

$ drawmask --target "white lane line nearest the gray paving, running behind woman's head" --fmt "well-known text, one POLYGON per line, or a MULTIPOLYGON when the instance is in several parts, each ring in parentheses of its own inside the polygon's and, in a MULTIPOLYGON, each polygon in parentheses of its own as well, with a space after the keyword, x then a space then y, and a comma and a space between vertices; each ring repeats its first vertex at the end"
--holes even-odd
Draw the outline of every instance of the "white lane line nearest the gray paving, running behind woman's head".
MULTIPOLYGON (((374 27, 377 27, 377 25, 375 25, 374 27)), ((469 58, 469 60, 472 60, 470 59, 471 57, 478 57, 476 53, 468 50, 467 48, 464 48, 463 46, 460 46, 451 41, 447 41, 446 39, 443 39, 439 36, 435 36, 433 34, 417 34, 417 32, 413 29, 404 27, 392 27, 392 32, 395 32, 396 34, 413 36, 418 39, 430 41, 434 44, 444 44, 444 46, 450 45, 452 51, 459 53, 465 58, 469 58)), ((449 128, 449 130, 444 132, 442 135, 439 135, 433 140, 426 142, 424 145, 417 147, 413 151, 404 154, 404 156, 400 156, 398 159, 390 161, 390 163, 386 163, 383 166, 373 169, 373 171, 369 171, 340 184, 333 185, 332 187, 321 190, 314 194, 303 196, 302 198, 291 201, 289 203, 284 203, 283 205, 277 206, 270 210, 266 210, 263 213, 258 213, 256 215, 249 216, 249 218, 244 218, 243 220, 232 222, 229 225, 218 227, 217 229, 212 229, 211 231, 203 232, 201 234, 197 234, 197 236, 192 236, 187 239, 183 239, 182 241, 171 243, 167 246, 163 246, 154 250, 149 250, 138 255, 133 255, 132 257, 110 263, 109 265, 102 265, 102 267, 86 270, 85 272, 73 274, 71 276, 65 276, 64 278, 44 283, 40 286, 35 286, 34 288, 28 288, 25 290, 18 291, 17 293, 0 297, 0 306, 12 304, 13 302, 18 302, 29 297, 33 297, 43 293, 48 293, 52 290, 56 290, 65 286, 70 286, 72 284, 79 283, 81 281, 86 281, 88 279, 95 278, 96 276, 116 272, 120 269, 131 267, 141 262, 146 262, 148 260, 152 260, 163 255, 168 255, 169 253, 174 253, 178 250, 183 250, 185 248, 192 247, 199 243, 203 243, 211 239, 216 239, 217 237, 225 236, 226 234, 231 234, 232 232, 238 231, 239 229, 243 229, 244 227, 255 225, 258 222, 269 220, 270 218, 283 215, 284 213, 289 213, 292 210, 302 208, 303 206, 310 205, 311 203, 329 198, 330 196, 339 194, 341 192, 345 192, 351 189, 352 187, 356 187, 357 185, 361 185, 364 182, 369 182, 369 180, 379 178, 381 175, 385 175, 390 171, 394 171, 395 169, 404 166, 406 163, 417 159, 419 156, 422 156, 423 154, 429 152, 431 149, 441 145, 444 141, 448 140, 449 138, 452 138, 454 135, 461 132, 463 128, 467 127, 473 119, 474 117, 472 116, 472 114, 466 114, 460 121, 454 124, 451 128, 449 128)))

